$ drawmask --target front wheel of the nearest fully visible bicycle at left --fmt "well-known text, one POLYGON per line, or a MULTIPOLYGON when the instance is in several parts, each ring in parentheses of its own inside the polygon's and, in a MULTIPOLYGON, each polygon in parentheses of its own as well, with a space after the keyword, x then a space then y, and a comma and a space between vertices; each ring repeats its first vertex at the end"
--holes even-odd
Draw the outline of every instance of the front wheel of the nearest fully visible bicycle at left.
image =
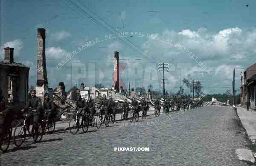
POLYGON ((19 147, 26 139, 26 127, 23 126, 23 123, 18 123, 14 130, 14 144, 19 147))

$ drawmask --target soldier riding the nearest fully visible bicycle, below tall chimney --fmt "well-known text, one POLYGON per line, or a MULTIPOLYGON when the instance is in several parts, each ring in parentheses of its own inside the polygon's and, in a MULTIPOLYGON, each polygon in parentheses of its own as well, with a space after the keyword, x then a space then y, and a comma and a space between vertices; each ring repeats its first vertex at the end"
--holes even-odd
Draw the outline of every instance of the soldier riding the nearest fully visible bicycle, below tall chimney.
MULTIPOLYGON (((36 137, 38 137, 38 123, 42 120, 44 113, 42 112, 42 101, 40 98, 38 98, 35 95, 35 90, 32 89, 30 91, 30 99, 26 103, 26 106, 24 109, 21 110, 22 112, 27 112, 27 121, 26 121, 26 126, 27 129, 29 130, 29 122, 30 119, 33 119, 33 127, 35 129, 35 134, 36 137)), ((33 131, 32 131, 33 132, 33 131)))

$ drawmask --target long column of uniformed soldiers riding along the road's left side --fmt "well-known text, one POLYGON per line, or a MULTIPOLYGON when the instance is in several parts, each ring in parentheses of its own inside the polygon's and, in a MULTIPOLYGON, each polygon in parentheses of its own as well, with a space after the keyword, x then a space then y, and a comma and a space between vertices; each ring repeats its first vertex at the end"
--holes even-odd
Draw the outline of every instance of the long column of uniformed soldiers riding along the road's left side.
MULTIPOLYGON (((143 116, 146 117, 147 111, 149 109, 147 100, 143 98, 142 102, 139 103, 136 97, 134 97, 131 103, 127 102, 127 99, 125 99, 124 103, 122 104, 124 119, 128 119, 130 105, 133 107, 134 114, 143 110, 143 116)), ((155 110, 160 111, 161 104, 159 100, 155 100, 154 106, 155 110)), ((196 108, 202 106, 202 101, 195 102, 188 100, 185 101, 166 99, 163 103, 164 112, 169 112, 170 108, 172 111, 174 111, 175 106, 177 110, 189 109, 189 106, 192 108, 196 108)), ((115 117, 117 104, 115 101, 113 101, 113 98, 110 98, 110 100, 108 100, 106 98, 106 95, 104 94, 98 105, 98 108, 100 109, 101 114, 105 114, 105 116, 113 114, 113 120, 116 119, 115 117)), ((77 95, 75 109, 79 110, 81 114, 90 114, 90 117, 93 117, 96 113, 96 103, 94 100, 92 100, 92 97, 89 97, 89 99, 85 101, 81 98, 81 95, 77 95)), ((3 97, 2 90, 0 89, 0 133, 5 132, 7 127, 11 125, 10 123, 14 118, 12 111, 12 107, 9 106, 6 98, 3 97)), ((25 108, 21 110, 21 112, 27 113, 27 128, 29 129, 29 122, 32 121, 33 127, 35 127, 35 131, 38 131, 38 123, 41 119, 47 119, 49 121, 55 118, 57 114, 55 104, 52 100, 49 99, 49 94, 46 93, 44 95, 44 102, 42 104, 41 99, 35 95, 35 90, 30 91, 30 99, 26 103, 25 108)), ((79 116, 81 116, 81 114, 79 114, 79 116)), ((92 118, 90 117, 88 117, 89 125, 91 125, 92 123, 92 118)))

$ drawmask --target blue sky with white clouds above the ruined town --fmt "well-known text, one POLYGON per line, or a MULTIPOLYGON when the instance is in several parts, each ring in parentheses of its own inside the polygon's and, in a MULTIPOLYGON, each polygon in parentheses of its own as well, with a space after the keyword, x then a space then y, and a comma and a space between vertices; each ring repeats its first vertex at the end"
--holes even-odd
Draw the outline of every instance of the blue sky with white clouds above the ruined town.
POLYGON ((167 92, 186 78, 199 80, 207 94, 222 94, 232 89, 234 68, 239 92, 240 72, 256 63, 255 6, 254 0, 1 0, 0 60, 3 48, 15 48, 15 62, 30 67, 29 86, 35 85, 37 28, 44 28, 52 88, 61 81, 67 90, 81 82, 111 87, 117 51, 124 89, 130 82, 161 90, 158 63, 169 63, 167 92))

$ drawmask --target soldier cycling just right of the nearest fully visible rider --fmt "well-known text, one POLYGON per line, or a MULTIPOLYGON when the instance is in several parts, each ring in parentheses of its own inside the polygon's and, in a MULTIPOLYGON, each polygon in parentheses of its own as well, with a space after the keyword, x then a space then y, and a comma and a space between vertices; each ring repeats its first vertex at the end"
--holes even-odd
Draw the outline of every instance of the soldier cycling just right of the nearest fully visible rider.
POLYGON ((55 105, 54 105, 53 101, 50 100, 48 93, 44 94, 43 109, 44 109, 44 113, 48 120, 47 125, 51 125, 54 122, 54 117, 55 117, 56 112, 55 112, 55 105))

